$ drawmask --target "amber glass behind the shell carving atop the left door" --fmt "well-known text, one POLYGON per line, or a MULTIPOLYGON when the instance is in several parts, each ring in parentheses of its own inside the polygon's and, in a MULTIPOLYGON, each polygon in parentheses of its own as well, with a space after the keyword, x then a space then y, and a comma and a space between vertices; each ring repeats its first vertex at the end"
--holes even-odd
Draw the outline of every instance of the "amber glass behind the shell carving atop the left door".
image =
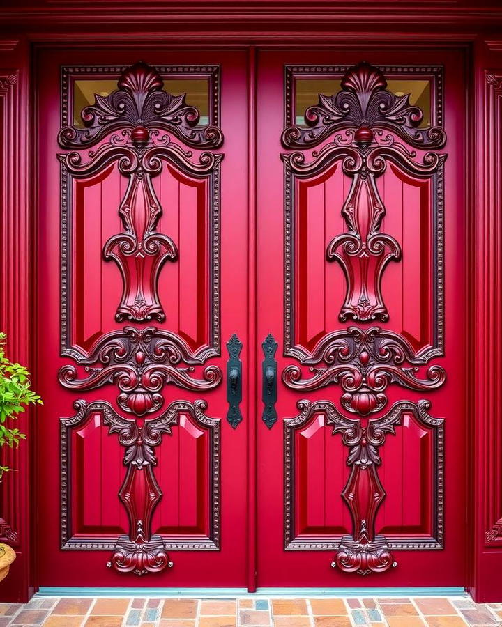
MULTIPOLYGON (((84 127, 80 113, 84 107, 94 104, 94 94, 107 96, 117 88, 116 79, 78 79, 73 84, 73 125, 84 127)), ((165 91, 172 95, 186 93, 185 102, 197 107, 199 126, 209 123, 209 81, 206 78, 164 79, 165 91)))

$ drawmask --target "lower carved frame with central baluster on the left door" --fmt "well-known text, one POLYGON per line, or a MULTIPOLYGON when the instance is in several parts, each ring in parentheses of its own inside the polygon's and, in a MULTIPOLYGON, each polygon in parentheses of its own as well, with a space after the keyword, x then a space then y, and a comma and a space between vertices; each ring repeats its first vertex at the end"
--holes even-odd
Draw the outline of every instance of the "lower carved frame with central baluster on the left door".
POLYGON ((109 566, 123 573, 144 575, 155 573, 173 566, 168 549, 206 549, 218 550, 220 537, 220 421, 204 414, 205 401, 175 401, 153 419, 139 423, 134 418, 124 418, 117 414, 106 401, 75 401, 77 414, 61 419, 61 512, 63 548, 70 549, 114 549, 109 566), (71 477, 69 474, 70 448, 69 433, 72 428, 84 424, 95 412, 102 415, 102 422, 109 428, 109 433, 119 436, 119 443, 125 448, 123 463, 127 467, 119 497, 128 513, 130 531, 127 536, 115 539, 85 539, 80 535, 72 537, 70 520, 71 477), (151 533, 151 520, 155 506, 162 497, 162 491, 155 479, 153 468, 157 465, 155 448, 162 442, 163 435, 171 435, 172 428, 178 424, 181 413, 188 413, 198 424, 211 433, 210 463, 213 468, 211 486, 210 536, 206 539, 179 539, 165 541, 161 536, 151 533))

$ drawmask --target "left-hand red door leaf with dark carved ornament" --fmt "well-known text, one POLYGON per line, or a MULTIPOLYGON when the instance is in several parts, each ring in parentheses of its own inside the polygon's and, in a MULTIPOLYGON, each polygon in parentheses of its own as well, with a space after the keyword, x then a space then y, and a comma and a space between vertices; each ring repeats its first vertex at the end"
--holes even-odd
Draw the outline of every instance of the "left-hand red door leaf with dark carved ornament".
POLYGON ((244 585, 245 68, 40 55, 40 585, 244 585))

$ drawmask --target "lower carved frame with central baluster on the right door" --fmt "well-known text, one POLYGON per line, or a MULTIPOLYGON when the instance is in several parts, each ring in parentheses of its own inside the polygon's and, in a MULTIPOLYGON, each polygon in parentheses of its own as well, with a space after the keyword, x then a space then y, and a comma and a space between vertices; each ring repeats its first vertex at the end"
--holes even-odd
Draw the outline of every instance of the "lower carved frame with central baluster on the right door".
POLYGON ((284 421, 285 440, 285 548, 286 549, 330 549, 337 548, 333 568, 345 572, 368 575, 371 572, 382 572, 396 566, 391 548, 442 548, 443 539, 443 419, 436 419, 427 412, 428 401, 399 401, 379 418, 367 420, 363 425, 360 419, 342 415, 330 401, 311 403, 307 400, 298 401, 300 415, 284 421), (342 491, 352 518, 352 534, 343 536, 340 541, 333 539, 321 541, 301 541, 295 539, 294 532, 294 431, 310 421, 316 413, 323 413, 326 426, 333 426, 333 435, 340 433, 342 442, 348 447, 347 465, 351 472, 347 484, 342 491), (386 497, 381 484, 378 467, 381 465, 379 449, 386 440, 386 435, 395 433, 395 427, 401 424, 402 417, 411 413, 426 428, 434 428, 436 438, 437 472, 436 472, 436 522, 435 538, 404 539, 390 543, 384 536, 375 533, 375 520, 379 506, 386 497))

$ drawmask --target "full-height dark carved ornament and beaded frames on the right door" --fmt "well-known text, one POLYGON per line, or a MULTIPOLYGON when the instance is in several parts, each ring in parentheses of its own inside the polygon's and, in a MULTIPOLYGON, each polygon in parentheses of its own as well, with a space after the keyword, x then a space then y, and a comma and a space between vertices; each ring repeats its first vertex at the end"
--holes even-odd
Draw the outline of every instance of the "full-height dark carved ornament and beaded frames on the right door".
MULTIPOLYGON (((286 114, 291 123, 291 76, 287 72, 288 89, 290 104, 286 114)), ((436 120, 440 117, 436 115, 436 120)), ((289 388, 302 391, 339 384, 342 388, 340 404, 356 415, 344 416, 330 401, 300 401, 301 415, 285 421, 286 548, 333 548, 333 542, 328 539, 319 542, 296 539, 292 511, 292 432, 315 412, 324 412, 327 424, 333 424, 333 433, 342 433, 342 440, 349 447, 347 465, 351 469, 342 498, 351 512, 353 529, 351 535, 338 542, 332 566, 361 575, 386 571, 396 565, 390 542, 375 533, 374 523, 385 497, 378 474, 379 448, 386 434, 394 433, 406 412, 428 428, 434 427, 436 434, 435 537, 423 541, 393 541, 393 548, 441 548, 443 540, 443 421, 427 414, 428 401, 400 401, 380 417, 365 418, 385 410, 388 385, 397 384, 420 392, 436 389, 446 380, 442 366, 427 365, 431 357, 443 354, 442 221, 446 155, 436 150, 445 145, 446 134, 439 126, 423 126, 422 120, 422 111, 410 104, 409 95, 397 96, 387 90, 381 70, 368 63, 358 63, 345 72, 341 91, 332 96, 319 94, 319 103, 305 112, 305 126, 289 125, 282 134, 284 148, 300 149, 282 155, 285 172, 284 354, 300 362, 300 365, 286 366, 282 380, 289 388), (326 261, 337 261, 344 272, 346 291, 339 313, 342 323, 349 319, 357 323, 372 320, 385 323, 389 318, 381 279, 386 265, 400 261, 403 253, 399 242, 381 229, 386 207, 379 193, 379 177, 390 165, 414 179, 431 180, 436 288, 432 305, 433 346, 416 351, 401 334, 378 326, 359 325, 328 332, 312 350, 296 343, 296 181, 312 180, 338 164, 351 179, 341 207, 346 231, 330 240, 326 261)))

